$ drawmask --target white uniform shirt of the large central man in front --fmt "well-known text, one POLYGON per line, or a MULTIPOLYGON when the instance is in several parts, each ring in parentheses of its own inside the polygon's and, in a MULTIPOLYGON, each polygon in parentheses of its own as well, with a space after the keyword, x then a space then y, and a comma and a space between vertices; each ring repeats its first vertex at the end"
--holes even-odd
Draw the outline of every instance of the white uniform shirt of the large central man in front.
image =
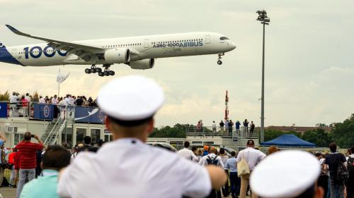
POLYGON ((60 176, 59 197, 206 197, 207 169, 175 153, 124 138, 81 152, 60 176))

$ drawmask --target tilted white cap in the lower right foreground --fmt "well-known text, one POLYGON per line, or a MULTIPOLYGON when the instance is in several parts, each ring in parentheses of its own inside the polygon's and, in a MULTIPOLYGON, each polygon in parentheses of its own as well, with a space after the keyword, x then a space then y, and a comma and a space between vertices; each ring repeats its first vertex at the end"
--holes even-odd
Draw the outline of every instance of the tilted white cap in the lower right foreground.
POLYGON ((321 167, 306 151, 278 151, 265 157, 251 173, 250 187, 259 197, 314 196, 321 167))

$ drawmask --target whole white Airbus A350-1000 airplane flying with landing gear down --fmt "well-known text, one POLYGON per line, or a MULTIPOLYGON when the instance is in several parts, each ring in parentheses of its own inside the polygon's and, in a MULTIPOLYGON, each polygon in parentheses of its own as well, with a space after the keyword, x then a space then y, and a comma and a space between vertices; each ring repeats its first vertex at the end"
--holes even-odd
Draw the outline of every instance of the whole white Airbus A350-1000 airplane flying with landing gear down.
POLYGON ((6 48, 0 42, 0 61, 21 66, 91 65, 85 73, 99 76, 115 75, 110 66, 125 63, 132 69, 150 69, 155 58, 217 54, 217 64, 225 52, 236 45, 215 32, 189 32, 171 35, 149 35, 113 39, 66 42, 28 35, 6 25, 16 35, 39 39, 46 43, 6 48), (97 68, 96 65, 102 65, 97 68))

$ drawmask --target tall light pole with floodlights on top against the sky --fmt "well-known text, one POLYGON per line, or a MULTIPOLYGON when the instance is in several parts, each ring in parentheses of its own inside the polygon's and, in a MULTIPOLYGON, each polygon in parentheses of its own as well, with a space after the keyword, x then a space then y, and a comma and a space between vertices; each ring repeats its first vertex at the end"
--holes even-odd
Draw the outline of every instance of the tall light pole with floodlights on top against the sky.
POLYGON ((262 97, 261 97, 261 142, 264 142, 264 40, 265 40, 265 25, 269 25, 270 18, 267 16, 267 12, 257 11, 257 20, 263 24, 263 58, 262 58, 262 97))

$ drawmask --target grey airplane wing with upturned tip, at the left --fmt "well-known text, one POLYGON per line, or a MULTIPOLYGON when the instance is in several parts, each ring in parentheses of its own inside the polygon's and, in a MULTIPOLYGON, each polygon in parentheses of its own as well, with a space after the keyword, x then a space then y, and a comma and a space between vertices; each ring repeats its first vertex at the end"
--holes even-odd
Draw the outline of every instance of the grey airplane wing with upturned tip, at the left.
POLYGON ((6 25, 6 27, 8 27, 8 29, 10 29, 16 35, 21 35, 23 37, 30 37, 33 39, 40 39, 42 41, 47 42, 49 46, 53 47, 56 50, 63 49, 67 51, 67 56, 69 56, 70 54, 75 54, 79 58, 84 59, 84 61, 90 61, 90 60, 98 61, 98 56, 101 56, 105 51, 101 46, 95 46, 91 44, 79 44, 74 42, 64 42, 56 39, 36 37, 33 35, 25 34, 19 30, 16 30, 16 28, 12 27, 11 25, 6 25))

